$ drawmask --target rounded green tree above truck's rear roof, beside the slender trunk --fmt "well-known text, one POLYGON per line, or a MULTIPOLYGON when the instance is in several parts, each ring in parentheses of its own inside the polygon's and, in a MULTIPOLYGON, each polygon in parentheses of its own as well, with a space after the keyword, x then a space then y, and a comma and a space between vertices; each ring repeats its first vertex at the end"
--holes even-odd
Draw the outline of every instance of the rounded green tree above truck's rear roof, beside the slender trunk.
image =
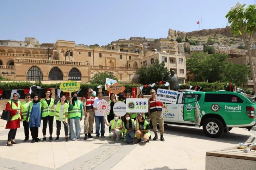
POLYGON ((243 83, 247 82, 248 77, 251 77, 250 67, 227 62, 225 77, 226 81, 231 81, 237 86, 242 86, 243 83))

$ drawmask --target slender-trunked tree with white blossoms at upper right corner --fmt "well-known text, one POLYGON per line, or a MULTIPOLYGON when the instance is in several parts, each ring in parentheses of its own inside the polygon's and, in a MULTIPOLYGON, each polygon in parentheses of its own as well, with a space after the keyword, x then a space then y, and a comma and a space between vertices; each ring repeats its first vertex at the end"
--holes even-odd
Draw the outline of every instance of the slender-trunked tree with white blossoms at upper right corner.
POLYGON ((245 5, 237 2, 236 6, 231 7, 225 17, 231 24, 230 27, 233 36, 242 35, 246 50, 248 50, 254 91, 256 91, 256 78, 250 51, 250 41, 256 32, 256 5, 248 5, 246 8, 244 7, 245 5))

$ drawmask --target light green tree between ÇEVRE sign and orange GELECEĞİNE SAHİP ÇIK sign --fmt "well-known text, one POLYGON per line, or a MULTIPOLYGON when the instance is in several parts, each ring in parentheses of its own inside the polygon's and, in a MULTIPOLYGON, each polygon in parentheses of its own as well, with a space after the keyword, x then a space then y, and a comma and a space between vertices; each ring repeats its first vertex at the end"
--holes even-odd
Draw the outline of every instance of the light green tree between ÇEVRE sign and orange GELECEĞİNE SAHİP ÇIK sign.
POLYGON ((100 72, 100 73, 94 74, 93 77, 90 77, 89 82, 91 84, 103 85, 106 82, 106 78, 110 78, 118 81, 118 79, 114 75, 110 75, 109 72, 106 71, 106 72, 100 72))

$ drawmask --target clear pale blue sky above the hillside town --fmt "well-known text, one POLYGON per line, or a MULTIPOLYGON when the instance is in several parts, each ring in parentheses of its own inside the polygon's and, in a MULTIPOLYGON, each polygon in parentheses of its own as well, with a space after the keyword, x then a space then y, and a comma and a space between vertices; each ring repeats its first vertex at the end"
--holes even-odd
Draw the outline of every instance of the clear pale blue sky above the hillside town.
MULTIPOLYGON (((179 31, 225 27, 225 15, 236 0, 5 0, 1 2, 0 40, 35 37, 75 44, 107 45, 119 38, 166 38, 179 31)), ((255 4, 256 0, 240 0, 255 4)))

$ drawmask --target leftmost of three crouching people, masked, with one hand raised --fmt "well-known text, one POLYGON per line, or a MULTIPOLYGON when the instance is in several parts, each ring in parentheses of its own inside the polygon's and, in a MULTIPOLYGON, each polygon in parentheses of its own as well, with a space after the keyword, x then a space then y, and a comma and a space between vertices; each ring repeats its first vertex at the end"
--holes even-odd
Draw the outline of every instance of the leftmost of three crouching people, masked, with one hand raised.
POLYGON ((116 138, 116 141, 120 139, 120 134, 123 133, 122 128, 120 127, 122 121, 118 118, 119 117, 115 115, 114 119, 111 120, 109 123, 106 122, 106 119, 104 119, 105 124, 111 128, 109 137, 116 138))

